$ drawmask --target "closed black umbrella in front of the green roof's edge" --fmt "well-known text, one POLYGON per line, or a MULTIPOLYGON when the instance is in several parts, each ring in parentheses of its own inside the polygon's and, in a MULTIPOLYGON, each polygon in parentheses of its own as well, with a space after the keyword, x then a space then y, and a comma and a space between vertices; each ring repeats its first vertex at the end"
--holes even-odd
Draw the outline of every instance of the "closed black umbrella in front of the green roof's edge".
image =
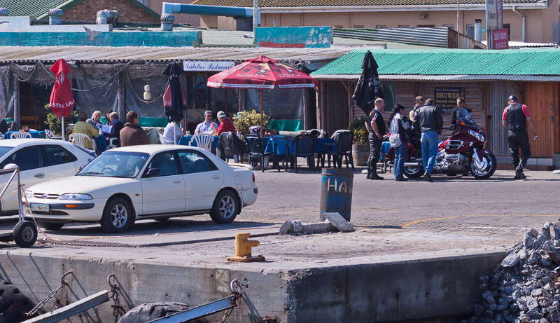
POLYGON ((383 90, 381 90, 379 74, 377 74, 378 67, 372 53, 367 50, 363 57, 362 75, 352 95, 352 99, 356 100, 356 105, 359 106, 365 114, 370 113, 371 104, 375 99, 378 97, 383 98, 383 90))

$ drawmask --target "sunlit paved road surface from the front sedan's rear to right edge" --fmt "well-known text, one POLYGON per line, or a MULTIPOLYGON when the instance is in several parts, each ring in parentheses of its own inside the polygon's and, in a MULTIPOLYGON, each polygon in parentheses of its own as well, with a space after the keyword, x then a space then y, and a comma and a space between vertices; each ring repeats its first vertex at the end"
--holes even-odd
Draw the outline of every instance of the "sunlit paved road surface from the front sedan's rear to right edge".
MULTIPOLYGON (((354 174, 351 214, 358 227, 518 236, 560 217, 560 174, 552 172, 526 172, 524 181, 507 170, 486 180, 436 174, 428 183, 396 182, 392 173, 370 181, 360 170, 354 174)), ((255 177, 258 200, 236 221, 318 221, 320 172, 255 170, 255 177)))

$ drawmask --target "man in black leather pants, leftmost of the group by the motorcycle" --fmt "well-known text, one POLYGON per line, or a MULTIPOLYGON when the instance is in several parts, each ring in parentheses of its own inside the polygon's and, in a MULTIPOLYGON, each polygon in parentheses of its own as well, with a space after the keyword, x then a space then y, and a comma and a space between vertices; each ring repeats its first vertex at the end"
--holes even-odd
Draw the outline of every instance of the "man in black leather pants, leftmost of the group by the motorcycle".
POLYGON ((367 139, 370 140, 370 158, 367 158, 367 179, 383 179, 377 174, 377 162, 379 161, 379 150, 381 141, 385 135, 385 121, 381 111, 385 108, 385 101, 381 98, 375 99, 375 108, 370 112, 365 121, 365 128, 370 132, 367 139))

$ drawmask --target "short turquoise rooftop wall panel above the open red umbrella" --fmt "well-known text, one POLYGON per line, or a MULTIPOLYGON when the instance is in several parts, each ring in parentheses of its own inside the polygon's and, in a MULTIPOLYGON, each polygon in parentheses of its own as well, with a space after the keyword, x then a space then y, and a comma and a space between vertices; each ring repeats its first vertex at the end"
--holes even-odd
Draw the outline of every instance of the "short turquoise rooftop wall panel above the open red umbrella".
POLYGON ((330 48, 331 27, 258 27, 259 47, 330 48))

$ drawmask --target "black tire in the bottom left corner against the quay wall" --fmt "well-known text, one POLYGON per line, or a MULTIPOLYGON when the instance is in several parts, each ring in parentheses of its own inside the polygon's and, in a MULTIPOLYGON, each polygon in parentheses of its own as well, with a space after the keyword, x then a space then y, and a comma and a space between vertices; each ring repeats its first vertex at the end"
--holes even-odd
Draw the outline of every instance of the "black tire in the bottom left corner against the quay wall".
POLYGON ((34 304, 18 287, 0 280, 0 323, 22 322, 32 308, 34 304))

